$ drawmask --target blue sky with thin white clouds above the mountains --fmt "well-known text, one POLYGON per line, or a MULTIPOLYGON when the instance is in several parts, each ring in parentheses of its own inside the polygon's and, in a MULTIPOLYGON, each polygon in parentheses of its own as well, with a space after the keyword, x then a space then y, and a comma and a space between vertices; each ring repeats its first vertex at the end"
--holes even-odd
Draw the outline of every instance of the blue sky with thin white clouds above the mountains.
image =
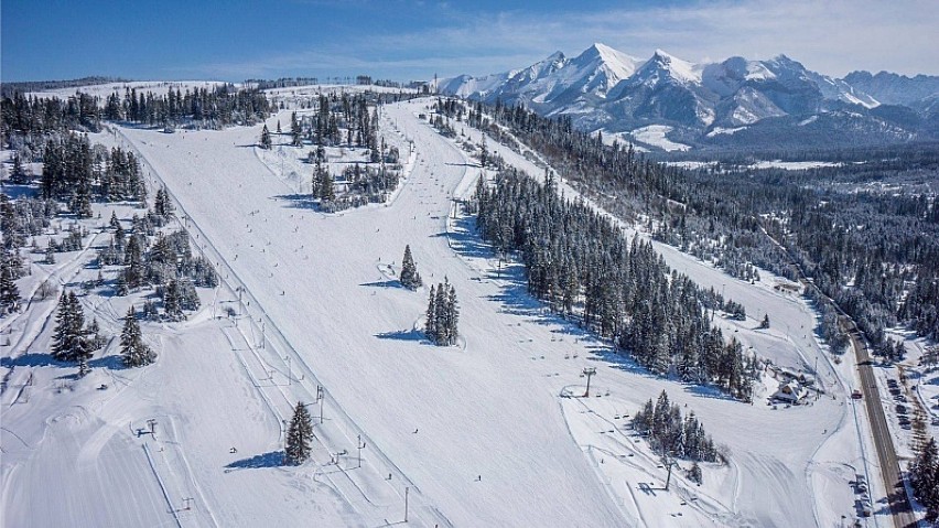
POLYGON ((939 74, 937 0, 2 0, 0 78, 485 74, 603 42, 692 62, 939 74))

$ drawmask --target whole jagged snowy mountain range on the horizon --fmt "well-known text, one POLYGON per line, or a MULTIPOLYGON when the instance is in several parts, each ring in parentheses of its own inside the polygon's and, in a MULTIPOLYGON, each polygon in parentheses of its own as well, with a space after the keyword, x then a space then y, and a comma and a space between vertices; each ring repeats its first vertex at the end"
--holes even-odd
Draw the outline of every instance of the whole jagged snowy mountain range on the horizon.
POLYGON ((557 52, 521 69, 442 79, 436 88, 565 116, 582 130, 667 150, 939 139, 939 76, 833 78, 786 55, 695 64, 661 50, 640 60, 597 43, 573 58, 557 52), (667 139, 649 140, 657 137, 649 130, 667 139))

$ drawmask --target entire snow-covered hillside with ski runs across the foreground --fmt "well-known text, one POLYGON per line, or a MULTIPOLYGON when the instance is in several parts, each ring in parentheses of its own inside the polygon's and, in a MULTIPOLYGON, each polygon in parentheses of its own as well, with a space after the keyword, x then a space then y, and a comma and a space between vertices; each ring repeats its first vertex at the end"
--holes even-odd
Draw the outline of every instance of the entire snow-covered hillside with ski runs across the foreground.
MULTIPOLYGON (((225 284, 190 321, 144 325, 156 365, 125 370, 101 359, 78 380, 39 354, 51 323, 36 314, 52 313, 52 301, 3 320, 2 524, 387 526, 403 519, 407 497, 409 524, 429 527, 838 526, 857 515, 849 485, 857 474, 872 484, 875 517, 888 521, 863 407, 846 398, 853 360, 829 362, 812 334, 817 314, 773 288, 782 279, 762 272, 751 284, 657 246, 672 267, 744 304, 746 321, 715 321, 725 335, 780 366, 817 365, 824 396, 774 409, 649 376, 529 298, 520 265, 497 269, 454 203, 482 170, 418 119, 429 104, 382 109, 386 141, 417 149, 395 198, 335 215, 298 200, 303 182, 281 171, 279 154, 256 153, 260 125, 96 138, 142 154, 151 188, 166 184, 225 284), (418 292, 395 279, 406 244, 427 283, 418 292), (462 340, 441 348, 417 328, 428 287, 444 277, 456 288, 462 340), (217 317, 227 308, 237 315, 217 317), (758 330, 765 313, 771 327, 758 330), (575 397, 590 366, 592 397, 575 397), (282 420, 298 400, 315 401, 319 418, 320 386, 313 461, 282 467, 282 420), (628 427, 662 390, 730 460, 705 465, 700 487, 676 471, 666 492, 666 468, 628 427), (151 418, 156 434, 140 434, 151 418)), ((268 128, 278 120, 288 123, 290 111, 268 128)), ((665 139, 667 130, 648 132, 665 139)), ((83 252, 61 261, 47 271, 62 283, 91 272, 83 252)), ((85 299, 112 317, 126 310, 119 299, 85 299)))

